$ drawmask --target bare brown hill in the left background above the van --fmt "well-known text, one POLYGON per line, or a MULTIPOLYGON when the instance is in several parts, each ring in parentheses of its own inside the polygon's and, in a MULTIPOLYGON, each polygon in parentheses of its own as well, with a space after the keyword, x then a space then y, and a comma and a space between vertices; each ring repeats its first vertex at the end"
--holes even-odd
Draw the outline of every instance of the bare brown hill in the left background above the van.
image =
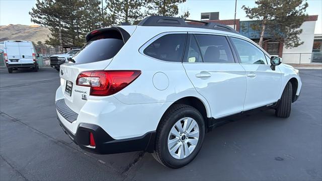
POLYGON ((33 42, 45 42, 50 35, 46 27, 39 25, 8 25, 0 26, 0 41, 6 40, 28 40, 33 42))

